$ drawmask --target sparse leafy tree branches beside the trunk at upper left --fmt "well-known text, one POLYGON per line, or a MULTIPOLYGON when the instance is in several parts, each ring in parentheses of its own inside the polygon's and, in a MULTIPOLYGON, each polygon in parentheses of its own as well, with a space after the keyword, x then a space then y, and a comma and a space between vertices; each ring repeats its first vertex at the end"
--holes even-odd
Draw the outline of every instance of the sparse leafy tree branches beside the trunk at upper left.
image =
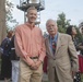
POLYGON ((12 15, 12 11, 13 11, 13 3, 10 2, 9 0, 5 1, 5 21, 7 21, 7 31, 9 31, 10 28, 13 28, 15 25, 17 25, 19 23, 16 22, 15 19, 13 19, 12 15), (12 27, 10 26, 10 23, 12 23, 12 27))

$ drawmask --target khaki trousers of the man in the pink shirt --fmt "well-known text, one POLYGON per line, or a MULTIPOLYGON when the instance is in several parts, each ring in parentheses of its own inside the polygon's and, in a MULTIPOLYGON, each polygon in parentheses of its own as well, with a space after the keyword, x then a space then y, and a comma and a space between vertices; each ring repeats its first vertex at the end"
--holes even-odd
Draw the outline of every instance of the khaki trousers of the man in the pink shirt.
MULTIPOLYGON (((37 59, 34 59, 37 60, 37 59)), ((19 82, 42 82, 43 65, 37 70, 32 70, 27 63, 20 60, 19 82)))

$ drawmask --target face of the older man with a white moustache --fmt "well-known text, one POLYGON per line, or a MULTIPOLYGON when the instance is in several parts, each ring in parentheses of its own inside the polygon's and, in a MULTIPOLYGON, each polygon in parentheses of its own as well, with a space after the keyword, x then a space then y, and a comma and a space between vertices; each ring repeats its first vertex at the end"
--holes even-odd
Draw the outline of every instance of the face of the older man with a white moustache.
POLYGON ((51 36, 56 35, 58 32, 58 27, 54 21, 49 21, 46 25, 46 28, 51 36))

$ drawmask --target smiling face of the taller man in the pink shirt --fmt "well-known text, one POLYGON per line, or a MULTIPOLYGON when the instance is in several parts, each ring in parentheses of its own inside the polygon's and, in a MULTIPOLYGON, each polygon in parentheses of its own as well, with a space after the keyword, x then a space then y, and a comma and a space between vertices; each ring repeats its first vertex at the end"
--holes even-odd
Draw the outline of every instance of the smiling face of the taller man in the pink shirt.
POLYGON ((29 12, 27 13, 27 19, 29 23, 35 23, 36 19, 37 19, 37 11, 36 10, 29 10, 29 12))

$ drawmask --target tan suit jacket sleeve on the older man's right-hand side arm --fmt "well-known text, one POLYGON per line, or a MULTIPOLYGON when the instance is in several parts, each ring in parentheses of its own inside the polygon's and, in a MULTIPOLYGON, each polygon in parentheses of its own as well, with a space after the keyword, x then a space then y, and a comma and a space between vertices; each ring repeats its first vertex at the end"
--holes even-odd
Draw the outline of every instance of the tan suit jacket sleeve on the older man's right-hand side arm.
POLYGON ((72 71, 79 71, 79 59, 76 55, 76 49, 74 47, 74 44, 72 42, 71 36, 69 36, 69 55, 71 57, 71 65, 72 65, 72 71))

